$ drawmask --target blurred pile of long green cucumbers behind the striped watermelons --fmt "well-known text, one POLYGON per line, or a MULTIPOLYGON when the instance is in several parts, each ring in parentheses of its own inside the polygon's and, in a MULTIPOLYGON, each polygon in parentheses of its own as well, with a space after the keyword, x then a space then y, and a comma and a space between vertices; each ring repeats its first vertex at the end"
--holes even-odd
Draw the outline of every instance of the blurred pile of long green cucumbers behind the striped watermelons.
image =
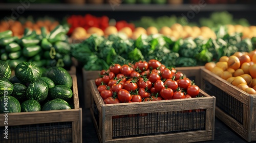
POLYGON ((69 69, 72 65, 68 26, 58 25, 50 33, 45 27, 41 34, 25 29, 24 36, 12 36, 11 30, 0 33, 1 60, 7 62, 13 70, 17 64, 29 61, 39 67, 58 66, 69 69))

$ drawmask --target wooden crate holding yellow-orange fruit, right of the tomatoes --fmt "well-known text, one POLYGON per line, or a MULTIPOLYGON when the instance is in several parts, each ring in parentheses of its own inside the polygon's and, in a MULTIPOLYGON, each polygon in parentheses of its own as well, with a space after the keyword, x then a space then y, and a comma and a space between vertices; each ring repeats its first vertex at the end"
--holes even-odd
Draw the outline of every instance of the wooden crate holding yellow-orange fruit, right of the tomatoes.
POLYGON ((256 141, 256 95, 201 69, 201 89, 216 97, 216 116, 248 142, 256 141))

